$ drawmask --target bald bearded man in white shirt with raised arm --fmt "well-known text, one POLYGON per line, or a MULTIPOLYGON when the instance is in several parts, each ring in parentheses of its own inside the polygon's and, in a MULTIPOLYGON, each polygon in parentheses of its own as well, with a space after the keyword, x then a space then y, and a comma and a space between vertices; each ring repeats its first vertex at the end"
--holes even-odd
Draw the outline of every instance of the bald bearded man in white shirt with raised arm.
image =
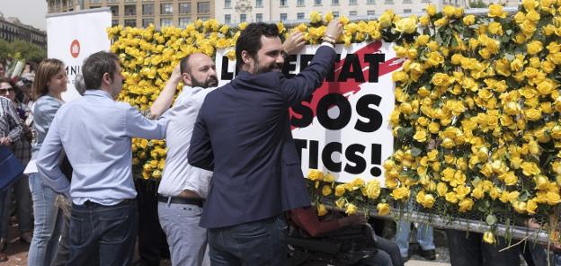
POLYGON ((207 246, 207 231, 199 226, 199 220, 212 172, 189 165, 187 154, 200 105, 218 85, 216 66, 209 56, 201 53, 183 58, 152 105, 152 118, 169 107, 180 81, 185 84, 183 91, 165 113, 170 122, 165 134, 165 168, 158 187, 158 217, 167 237, 172 264, 200 265, 207 246))

